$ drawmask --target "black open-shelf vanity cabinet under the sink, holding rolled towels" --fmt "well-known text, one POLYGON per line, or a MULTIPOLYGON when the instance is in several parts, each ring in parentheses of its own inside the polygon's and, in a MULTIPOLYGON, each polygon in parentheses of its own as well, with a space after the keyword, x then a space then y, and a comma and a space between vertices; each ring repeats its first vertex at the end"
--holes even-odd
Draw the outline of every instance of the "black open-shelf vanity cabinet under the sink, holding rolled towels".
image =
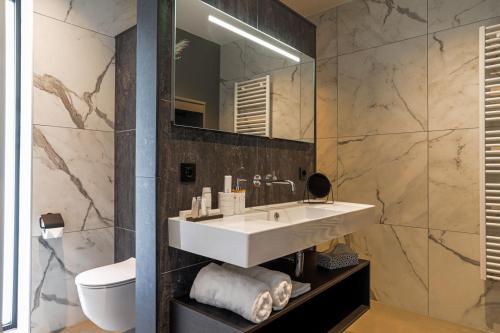
MULTIPOLYGON (((284 259, 269 263, 292 274, 294 266, 284 259)), ((293 276, 293 275, 291 275, 293 276)), ((370 307, 370 263, 361 260, 357 266, 328 271, 306 267, 300 279, 311 283, 311 291, 291 299, 269 319, 253 324, 230 311, 200 304, 189 296, 171 303, 173 333, 236 332, 343 332, 370 307)))

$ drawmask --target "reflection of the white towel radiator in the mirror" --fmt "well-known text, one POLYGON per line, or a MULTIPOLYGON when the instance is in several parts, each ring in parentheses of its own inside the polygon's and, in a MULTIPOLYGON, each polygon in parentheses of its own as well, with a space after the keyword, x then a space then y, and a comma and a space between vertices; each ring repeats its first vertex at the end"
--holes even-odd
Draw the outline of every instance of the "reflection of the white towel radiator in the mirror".
POLYGON ((234 132, 271 134, 271 76, 234 84, 234 132))

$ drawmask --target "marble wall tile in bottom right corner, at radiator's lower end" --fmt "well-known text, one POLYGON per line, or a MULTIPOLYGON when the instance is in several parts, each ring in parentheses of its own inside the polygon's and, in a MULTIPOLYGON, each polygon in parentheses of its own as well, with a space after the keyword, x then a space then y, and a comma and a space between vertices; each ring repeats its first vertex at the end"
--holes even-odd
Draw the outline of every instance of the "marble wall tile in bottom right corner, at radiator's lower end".
POLYGON ((480 330, 500 324, 500 283, 479 275, 479 236, 429 232, 429 315, 480 330))

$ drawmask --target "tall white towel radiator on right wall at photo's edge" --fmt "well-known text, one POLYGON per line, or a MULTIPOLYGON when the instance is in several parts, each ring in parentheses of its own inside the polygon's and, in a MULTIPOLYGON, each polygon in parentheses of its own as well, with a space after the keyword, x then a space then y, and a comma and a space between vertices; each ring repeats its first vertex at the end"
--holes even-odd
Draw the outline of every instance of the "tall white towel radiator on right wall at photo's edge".
POLYGON ((500 281, 500 24, 479 31, 481 278, 500 281))

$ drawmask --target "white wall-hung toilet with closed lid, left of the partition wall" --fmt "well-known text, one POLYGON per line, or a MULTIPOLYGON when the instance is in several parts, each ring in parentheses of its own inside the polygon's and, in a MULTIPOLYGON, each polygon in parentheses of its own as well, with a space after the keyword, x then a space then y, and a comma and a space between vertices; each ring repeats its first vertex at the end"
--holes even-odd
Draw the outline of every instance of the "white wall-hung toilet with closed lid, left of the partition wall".
POLYGON ((108 331, 135 327, 135 258, 97 267, 75 278, 83 313, 108 331))

